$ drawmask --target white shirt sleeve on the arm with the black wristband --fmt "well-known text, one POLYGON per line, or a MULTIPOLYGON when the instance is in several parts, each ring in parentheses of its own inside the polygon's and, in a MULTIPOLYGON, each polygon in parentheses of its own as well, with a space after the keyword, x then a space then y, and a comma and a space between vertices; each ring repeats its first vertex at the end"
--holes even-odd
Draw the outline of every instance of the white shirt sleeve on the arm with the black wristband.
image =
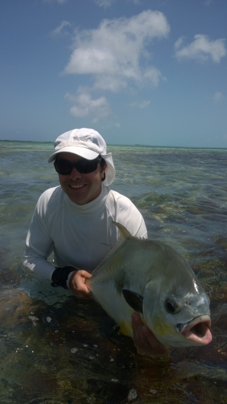
POLYGON ((42 194, 37 202, 27 234, 23 265, 37 275, 51 280, 55 267, 47 261, 47 257, 53 250, 53 240, 50 237, 45 213, 45 198, 42 194))

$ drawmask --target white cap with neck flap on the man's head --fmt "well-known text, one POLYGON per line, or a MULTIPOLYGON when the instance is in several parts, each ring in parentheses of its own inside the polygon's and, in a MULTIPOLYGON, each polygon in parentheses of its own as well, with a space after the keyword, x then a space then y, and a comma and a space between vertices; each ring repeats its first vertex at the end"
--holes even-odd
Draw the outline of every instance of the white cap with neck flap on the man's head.
POLYGON ((107 163, 105 170, 105 185, 110 185, 115 178, 115 168, 111 153, 106 152, 106 143, 103 137, 94 129, 73 129, 60 135, 55 141, 55 153, 48 158, 48 163, 55 160, 57 154, 67 151, 77 154, 87 160, 93 160, 99 155, 107 163))

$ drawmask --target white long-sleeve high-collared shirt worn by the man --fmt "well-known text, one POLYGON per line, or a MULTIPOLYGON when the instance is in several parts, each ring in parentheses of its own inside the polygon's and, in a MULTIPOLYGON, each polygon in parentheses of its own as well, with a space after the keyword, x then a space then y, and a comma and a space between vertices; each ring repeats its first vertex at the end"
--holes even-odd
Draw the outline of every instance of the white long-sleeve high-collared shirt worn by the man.
POLYGON ((55 267, 92 273, 118 240, 112 221, 124 225, 133 236, 147 238, 139 210, 103 183, 98 198, 85 205, 72 202, 61 186, 47 189, 32 217, 23 264, 50 280, 55 267), (55 266, 47 260, 52 251, 55 266))

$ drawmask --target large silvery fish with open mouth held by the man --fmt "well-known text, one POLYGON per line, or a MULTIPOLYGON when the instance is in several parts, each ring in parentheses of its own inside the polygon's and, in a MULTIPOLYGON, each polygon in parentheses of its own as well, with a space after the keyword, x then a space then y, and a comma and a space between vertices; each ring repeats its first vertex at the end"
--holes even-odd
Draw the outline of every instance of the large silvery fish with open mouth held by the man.
POLYGON ((210 299, 185 259, 172 247, 137 238, 120 223, 119 239, 86 279, 92 297, 133 338, 131 315, 170 347, 207 345, 210 299))

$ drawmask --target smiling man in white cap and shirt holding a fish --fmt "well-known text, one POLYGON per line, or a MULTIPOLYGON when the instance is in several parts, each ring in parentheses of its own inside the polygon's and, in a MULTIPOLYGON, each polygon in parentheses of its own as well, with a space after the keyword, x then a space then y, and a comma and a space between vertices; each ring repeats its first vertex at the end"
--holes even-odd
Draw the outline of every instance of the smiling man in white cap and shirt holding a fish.
MULTIPOLYGON (((132 202, 110 185, 115 177, 111 153, 93 129, 70 130, 55 141, 54 162, 60 186, 47 189, 39 198, 26 239, 24 265, 52 280, 52 286, 69 288, 77 297, 90 297, 84 281, 118 240, 124 225, 133 236, 147 237, 141 213, 132 202), (47 258, 54 252, 54 267, 47 258)), ((132 315, 137 351, 147 355, 166 353, 132 315)))

